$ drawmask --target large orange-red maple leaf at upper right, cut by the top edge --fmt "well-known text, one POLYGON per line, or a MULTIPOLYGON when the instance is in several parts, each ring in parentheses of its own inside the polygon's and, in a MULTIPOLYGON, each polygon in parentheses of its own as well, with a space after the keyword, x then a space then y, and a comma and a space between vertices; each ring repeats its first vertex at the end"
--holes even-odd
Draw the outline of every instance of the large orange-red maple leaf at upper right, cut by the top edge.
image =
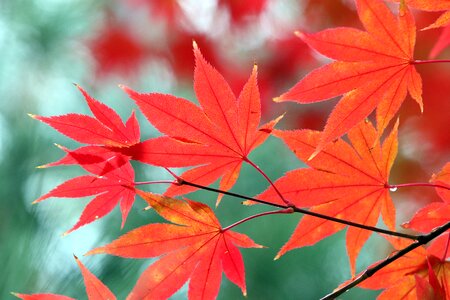
POLYGON ((377 108, 381 134, 409 91, 422 110, 422 80, 413 65, 414 19, 406 6, 396 17, 380 0, 357 0, 366 31, 333 28, 298 33, 310 47, 337 60, 309 73, 274 100, 313 103, 344 94, 331 112, 313 157, 377 108))

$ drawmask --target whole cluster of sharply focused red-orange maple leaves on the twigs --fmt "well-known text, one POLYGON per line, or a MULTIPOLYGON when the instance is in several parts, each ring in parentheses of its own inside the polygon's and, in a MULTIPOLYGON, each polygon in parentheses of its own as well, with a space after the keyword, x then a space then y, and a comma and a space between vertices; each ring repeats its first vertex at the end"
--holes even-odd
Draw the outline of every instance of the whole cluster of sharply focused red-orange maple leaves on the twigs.
MULTIPOLYGON (((381 140, 408 91, 422 106, 421 78, 412 56, 416 29, 413 16, 403 4, 399 16, 395 16, 380 0, 357 0, 356 3, 366 31, 338 28, 316 34, 300 33, 308 45, 338 61, 313 71, 277 98, 305 103, 344 94, 323 132, 273 130, 280 118, 259 126, 261 103, 256 66, 236 97, 194 43, 194 90, 200 106, 172 95, 140 94, 122 87, 163 136, 141 142, 134 113, 124 124, 117 113, 81 88, 94 117, 33 115, 75 141, 87 144, 75 150, 61 147, 66 156, 44 167, 76 164, 90 173, 68 180, 35 202, 50 197, 95 196, 67 233, 103 217, 119 202, 123 226, 136 194, 173 223, 134 229, 88 253, 127 258, 160 257, 143 272, 130 299, 164 299, 188 280, 190 299, 214 299, 219 292, 222 272, 246 294, 244 263, 238 247, 261 246, 246 235, 222 228, 205 204, 171 197, 195 189, 183 185, 183 181, 207 186, 220 179, 220 189, 227 191, 235 184, 243 162, 261 171, 249 159, 249 154, 272 133, 309 168, 288 172, 259 199, 282 207, 308 207, 311 212, 365 226, 375 226, 381 215, 385 225, 394 231, 395 206, 389 194, 389 173, 397 155, 399 121, 383 142, 381 140), (375 108, 376 126, 365 119, 375 108), (347 134, 349 142, 340 139, 343 134, 347 134), (136 188, 130 160, 166 169, 191 169, 181 174, 165 195, 156 195, 136 188)), ((419 210, 403 225, 405 228, 430 232, 449 222, 449 174, 447 164, 431 179, 443 201, 419 210)), ((277 258, 289 250, 315 244, 344 227, 306 216, 277 258)), ((355 227, 347 231, 352 275, 356 273, 357 257, 370 235, 371 231, 355 227)), ((442 234, 427 248, 409 252, 361 286, 386 289, 381 299, 448 297, 449 240, 448 232, 442 234)), ((394 239, 390 242, 395 249, 408 245, 394 239)), ((93 292, 89 292, 89 287, 101 284, 81 263, 79 265, 91 297, 93 292)), ((104 290, 101 297, 113 297, 109 290, 104 290)))

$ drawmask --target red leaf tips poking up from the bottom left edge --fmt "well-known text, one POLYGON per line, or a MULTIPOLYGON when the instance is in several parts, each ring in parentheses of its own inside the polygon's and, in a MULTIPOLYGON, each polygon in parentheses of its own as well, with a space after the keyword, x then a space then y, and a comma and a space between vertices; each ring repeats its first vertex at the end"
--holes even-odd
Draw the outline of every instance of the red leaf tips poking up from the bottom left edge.
MULTIPOLYGON (((105 286, 94 274, 92 274, 83 263, 75 256, 75 260, 83 275, 84 285, 86 286, 86 295, 89 300, 115 300, 116 297, 111 290, 105 286)), ((63 295, 56 294, 18 294, 12 293, 17 298, 23 300, 74 300, 63 295)))

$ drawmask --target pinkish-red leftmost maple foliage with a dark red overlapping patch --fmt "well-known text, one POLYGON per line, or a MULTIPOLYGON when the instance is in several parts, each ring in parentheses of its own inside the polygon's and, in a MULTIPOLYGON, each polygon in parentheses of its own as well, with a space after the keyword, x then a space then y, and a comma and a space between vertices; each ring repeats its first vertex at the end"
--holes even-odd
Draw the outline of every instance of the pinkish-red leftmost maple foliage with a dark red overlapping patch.
POLYGON ((134 202, 134 170, 129 157, 117 149, 127 148, 139 142, 140 130, 134 113, 124 124, 119 115, 98 102, 78 86, 95 118, 68 114, 54 117, 32 117, 42 121, 62 134, 90 146, 68 150, 61 160, 41 167, 78 164, 93 175, 76 177, 57 186, 33 203, 50 197, 78 198, 96 196, 84 209, 78 222, 66 234, 102 218, 119 202, 122 227, 134 202))

